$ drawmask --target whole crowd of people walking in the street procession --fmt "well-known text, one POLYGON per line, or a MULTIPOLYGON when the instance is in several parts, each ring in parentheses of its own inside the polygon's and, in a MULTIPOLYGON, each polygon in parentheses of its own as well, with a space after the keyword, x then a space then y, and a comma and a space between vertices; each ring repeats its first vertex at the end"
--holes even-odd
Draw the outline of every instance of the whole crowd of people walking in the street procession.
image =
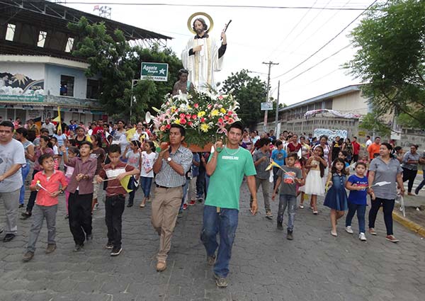
MULTIPOLYGON (((42 222, 47 222, 47 247, 56 249, 55 221, 58 196, 65 194, 69 229, 74 237, 73 251, 84 249, 93 239, 91 219, 104 200, 106 210, 106 249, 111 256, 123 250, 121 242, 125 195, 127 207, 136 202, 145 208, 152 204, 152 226, 159 234, 157 271, 166 269, 171 237, 176 220, 189 206, 203 203, 203 227, 200 238, 207 262, 214 266, 218 287, 227 286, 229 261, 237 229, 239 188, 246 181, 253 215, 258 210, 256 193, 260 186, 268 219, 273 219, 271 202, 278 195, 277 228, 283 229, 283 215, 288 208, 287 239, 294 239, 297 197, 299 208, 318 215, 317 196, 324 196, 330 208, 331 235, 337 236, 337 220, 348 211, 345 230, 353 234, 351 221, 357 214, 358 238, 366 240, 365 214, 368 195, 368 233, 376 235, 375 220, 383 208, 386 239, 398 242, 392 229, 392 210, 397 195, 413 195, 413 183, 419 164, 425 166, 425 152, 413 145, 404 153, 394 142, 374 141, 367 137, 362 146, 357 137, 313 137, 283 131, 278 137, 270 132, 247 130, 242 123, 227 129, 226 142, 217 141, 211 152, 191 152, 184 146, 186 132, 181 125, 171 125, 169 141, 159 142, 154 128, 145 123, 126 125, 123 120, 103 120, 67 124, 52 123, 46 118, 40 128, 28 120, 0 123, 0 197, 6 208, 6 233, 10 242, 17 234, 18 208, 25 203, 25 181, 33 166, 30 196, 21 219, 32 217, 28 245, 23 261, 35 254, 35 244, 42 222), (63 129, 63 131, 62 131, 63 129), (14 139, 13 139, 14 138, 14 139), (141 187, 142 199, 135 200, 141 187), (151 198, 151 187, 154 198, 151 198), (348 194, 347 194, 348 190, 348 194), (102 198, 105 191, 105 198, 102 198), (217 242, 217 234, 220 241, 217 242)), ((418 194, 425 179, 416 187, 418 194)))

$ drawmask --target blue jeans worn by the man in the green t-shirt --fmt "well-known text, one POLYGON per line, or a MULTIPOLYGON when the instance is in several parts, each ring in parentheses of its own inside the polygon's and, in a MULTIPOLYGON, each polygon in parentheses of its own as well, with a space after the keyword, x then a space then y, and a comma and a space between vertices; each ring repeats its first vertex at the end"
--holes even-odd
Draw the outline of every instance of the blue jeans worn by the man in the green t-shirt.
POLYGON ((220 212, 217 212, 217 208, 214 206, 204 206, 203 229, 200 239, 205 246, 207 256, 215 256, 218 247, 214 273, 219 277, 226 278, 229 273, 238 215, 237 209, 220 208, 220 212), (220 233, 220 244, 217 244, 217 233, 220 233))

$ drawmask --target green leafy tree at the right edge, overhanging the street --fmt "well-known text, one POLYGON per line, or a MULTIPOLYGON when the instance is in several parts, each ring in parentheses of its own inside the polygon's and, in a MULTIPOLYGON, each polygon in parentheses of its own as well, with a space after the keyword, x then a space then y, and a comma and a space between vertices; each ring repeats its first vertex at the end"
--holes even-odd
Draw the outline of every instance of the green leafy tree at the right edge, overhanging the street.
POLYGON ((425 128, 425 1, 378 4, 353 30, 358 47, 346 64, 365 84, 363 95, 378 115, 401 115, 404 125, 425 128))

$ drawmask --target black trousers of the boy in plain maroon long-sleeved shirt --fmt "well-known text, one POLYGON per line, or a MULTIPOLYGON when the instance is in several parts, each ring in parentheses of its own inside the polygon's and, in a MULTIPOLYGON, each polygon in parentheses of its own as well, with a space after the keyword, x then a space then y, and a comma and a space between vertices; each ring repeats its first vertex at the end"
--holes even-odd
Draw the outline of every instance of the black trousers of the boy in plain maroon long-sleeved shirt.
POLYGON ((91 200, 93 193, 69 193, 69 229, 74 237, 75 244, 83 245, 86 235, 91 234, 91 200))

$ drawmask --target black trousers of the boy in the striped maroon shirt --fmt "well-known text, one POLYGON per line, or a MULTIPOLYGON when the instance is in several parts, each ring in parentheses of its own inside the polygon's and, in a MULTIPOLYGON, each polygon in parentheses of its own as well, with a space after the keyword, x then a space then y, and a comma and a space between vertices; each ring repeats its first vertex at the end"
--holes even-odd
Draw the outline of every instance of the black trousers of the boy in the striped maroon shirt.
POLYGON ((108 228, 108 242, 114 248, 121 247, 121 229, 123 228, 123 212, 125 195, 107 196, 105 201, 105 222, 108 228))

